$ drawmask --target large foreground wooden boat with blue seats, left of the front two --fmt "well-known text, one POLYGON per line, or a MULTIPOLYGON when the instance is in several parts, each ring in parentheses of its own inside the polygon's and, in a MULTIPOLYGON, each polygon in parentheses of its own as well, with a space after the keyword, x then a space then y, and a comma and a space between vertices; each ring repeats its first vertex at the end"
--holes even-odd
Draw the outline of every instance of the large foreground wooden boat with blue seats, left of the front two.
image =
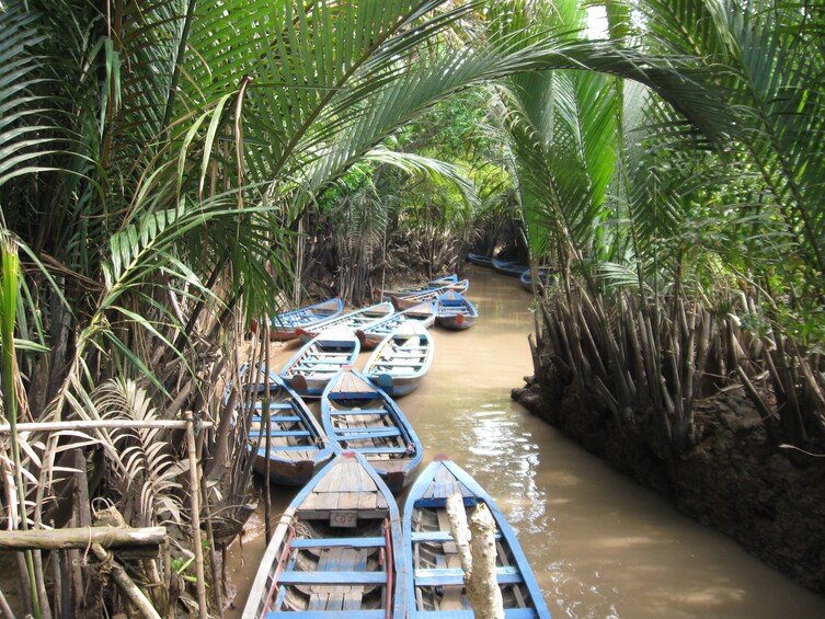
POLYGON ((396 500, 359 455, 342 454, 282 516, 243 619, 403 618, 404 569, 396 500))

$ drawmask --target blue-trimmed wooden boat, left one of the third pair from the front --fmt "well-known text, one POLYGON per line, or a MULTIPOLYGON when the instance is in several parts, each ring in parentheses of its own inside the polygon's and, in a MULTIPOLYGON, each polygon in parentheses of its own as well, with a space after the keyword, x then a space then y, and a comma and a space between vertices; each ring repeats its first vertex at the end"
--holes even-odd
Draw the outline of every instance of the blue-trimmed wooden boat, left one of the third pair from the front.
POLYGON ((360 343, 351 329, 328 329, 305 344, 279 376, 299 396, 319 397, 342 367, 355 363, 359 352, 360 343))

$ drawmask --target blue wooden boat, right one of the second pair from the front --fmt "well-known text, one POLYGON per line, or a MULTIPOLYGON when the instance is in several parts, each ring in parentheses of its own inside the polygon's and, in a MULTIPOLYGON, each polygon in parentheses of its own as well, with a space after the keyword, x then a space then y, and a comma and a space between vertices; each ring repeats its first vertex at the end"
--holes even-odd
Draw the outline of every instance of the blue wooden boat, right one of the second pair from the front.
POLYGON ((342 369, 321 398, 324 432, 341 449, 364 456, 392 492, 412 481, 423 447, 398 404, 353 368, 342 369))

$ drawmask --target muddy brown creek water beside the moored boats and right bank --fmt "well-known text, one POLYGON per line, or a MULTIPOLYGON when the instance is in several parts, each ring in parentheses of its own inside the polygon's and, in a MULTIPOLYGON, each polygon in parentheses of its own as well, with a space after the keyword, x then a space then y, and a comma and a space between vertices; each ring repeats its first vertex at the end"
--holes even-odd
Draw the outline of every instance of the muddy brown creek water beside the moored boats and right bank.
MULTIPOLYGON (((554 619, 825 617, 825 597, 684 517, 513 402, 511 389, 532 374, 530 295, 516 278, 482 267, 468 267, 467 276, 480 319, 463 332, 433 330, 433 367, 398 402, 425 446, 424 466, 447 454, 499 503, 554 619)), ((285 347, 275 358, 283 364, 296 351, 285 347)), ((279 513, 295 491, 273 485, 272 493, 279 513)), ((225 617, 240 617, 263 551, 259 507, 242 548, 229 549, 236 598, 225 617)))

